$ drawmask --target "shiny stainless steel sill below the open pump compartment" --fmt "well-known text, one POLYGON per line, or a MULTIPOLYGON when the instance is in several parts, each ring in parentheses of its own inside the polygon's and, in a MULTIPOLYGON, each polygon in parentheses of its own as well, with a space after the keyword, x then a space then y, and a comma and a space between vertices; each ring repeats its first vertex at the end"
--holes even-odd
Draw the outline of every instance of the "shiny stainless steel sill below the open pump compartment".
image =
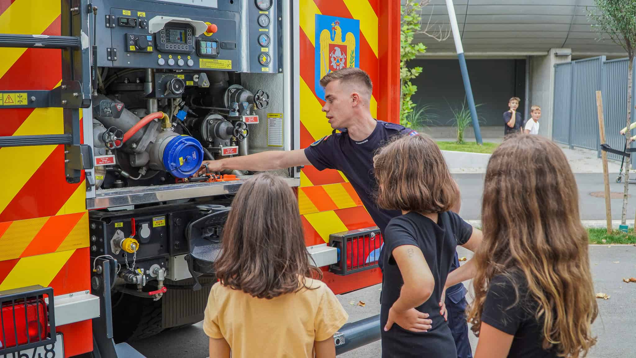
MULTIPOLYGON (((285 178, 290 187, 300 186, 299 178, 285 178)), ((244 180, 219 183, 181 183, 154 187, 130 187, 97 190, 95 199, 86 199, 86 209, 112 208, 135 204, 156 203, 193 197, 235 194, 244 180)))

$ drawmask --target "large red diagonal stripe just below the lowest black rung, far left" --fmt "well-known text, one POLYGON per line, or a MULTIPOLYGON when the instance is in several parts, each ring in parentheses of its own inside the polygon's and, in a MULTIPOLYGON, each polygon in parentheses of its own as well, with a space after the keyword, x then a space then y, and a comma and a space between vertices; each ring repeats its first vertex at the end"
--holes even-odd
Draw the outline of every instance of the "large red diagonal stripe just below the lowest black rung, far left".
POLYGON ((0 213, 0 222, 55 215, 80 184, 66 182, 64 146, 58 145, 0 213))

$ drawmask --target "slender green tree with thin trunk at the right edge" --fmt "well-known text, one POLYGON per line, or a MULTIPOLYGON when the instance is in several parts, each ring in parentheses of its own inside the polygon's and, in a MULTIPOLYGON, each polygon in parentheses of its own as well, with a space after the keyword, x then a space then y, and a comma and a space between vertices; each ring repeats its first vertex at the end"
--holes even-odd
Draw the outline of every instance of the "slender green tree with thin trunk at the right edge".
MULTIPOLYGON (((588 8, 588 18, 598 33, 599 39, 609 35, 614 43, 623 47, 629 57, 627 71, 627 128, 632 117, 632 73, 634 50, 636 47, 636 1, 634 0, 594 0, 597 6, 588 8)), ((628 131, 629 132, 629 131, 628 131)), ((626 140, 630 141, 629 135, 626 140)), ((623 189, 623 212, 621 223, 625 225, 627 216, 627 192, 629 189, 630 161, 626 161, 625 188, 623 189)))

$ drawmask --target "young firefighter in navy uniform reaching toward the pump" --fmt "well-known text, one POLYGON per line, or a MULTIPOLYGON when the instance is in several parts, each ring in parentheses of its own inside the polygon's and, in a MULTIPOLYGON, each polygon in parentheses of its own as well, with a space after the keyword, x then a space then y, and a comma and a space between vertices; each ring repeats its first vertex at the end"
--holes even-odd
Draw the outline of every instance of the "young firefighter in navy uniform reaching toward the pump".
MULTIPOLYGON (((325 88, 326 100, 322 111, 334 129, 332 134, 324 136, 305 149, 287 152, 268 151, 218 161, 205 161, 204 166, 207 166, 209 171, 265 171, 305 165, 313 165, 319 171, 337 169, 347 177, 380 231, 384 231, 389 220, 401 215, 401 212, 380 209, 373 199, 377 183, 373 175, 373 155, 379 147, 391 140, 392 136, 415 136, 418 132, 399 124, 376 120, 371 116, 371 79, 359 68, 344 68, 328 73, 321 79, 320 84, 325 88), (340 132, 336 132, 336 129, 340 132)), ((457 212, 459 208, 453 211, 457 212)), ((453 269, 459 266, 457 253, 454 262, 453 269)), ((459 283, 448 289, 445 299, 448 324, 455 338, 458 355, 462 358, 471 357, 468 327, 464 318, 464 296, 466 288, 459 283)), ((431 320, 427 320, 427 324, 431 324, 431 320)))

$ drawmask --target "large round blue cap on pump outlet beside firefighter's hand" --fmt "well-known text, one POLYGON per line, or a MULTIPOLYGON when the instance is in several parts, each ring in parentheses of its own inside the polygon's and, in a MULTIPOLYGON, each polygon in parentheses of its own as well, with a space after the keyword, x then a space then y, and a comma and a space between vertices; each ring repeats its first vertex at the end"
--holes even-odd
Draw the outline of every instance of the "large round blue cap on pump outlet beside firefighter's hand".
POLYGON ((203 162, 203 147, 191 136, 176 136, 163 150, 163 167, 176 178, 188 178, 203 162))

